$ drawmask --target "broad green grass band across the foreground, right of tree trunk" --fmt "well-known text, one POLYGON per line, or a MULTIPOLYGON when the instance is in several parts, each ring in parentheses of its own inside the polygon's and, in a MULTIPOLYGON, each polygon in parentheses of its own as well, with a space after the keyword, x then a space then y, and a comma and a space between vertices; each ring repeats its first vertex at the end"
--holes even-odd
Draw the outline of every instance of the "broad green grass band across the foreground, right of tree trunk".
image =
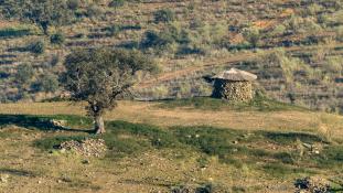
MULTIPOLYGON (((72 120, 73 124, 81 122, 76 117, 72 117, 72 120)), ((264 171, 270 176, 309 174, 323 169, 341 170, 340 165, 343 160, 342 146, 326 143, 315 135, 302 132, 246 131, 205 126, 160 128, 119 120, 106 122, 106 127, 107 133, 105 135, 64 133, 39 139, 34 146, 42 150, 52 150, 67 140, 101 138, 109 148, 107 158, 112 160, 133 157, 153 149, 172 149, 185 154, 192 152, 203 154, 197 159, 199 165, 202 167, 208 163, 210 157, 217 157, 224 164, 237 168, 248 165, 251 169, 264 171), (297 140, 307 143, 322 143, 325 148, 320 154, 306 152, 300 156, 296 148, 297 140), (268 144, 276 149, 266 148, 268 144)))

